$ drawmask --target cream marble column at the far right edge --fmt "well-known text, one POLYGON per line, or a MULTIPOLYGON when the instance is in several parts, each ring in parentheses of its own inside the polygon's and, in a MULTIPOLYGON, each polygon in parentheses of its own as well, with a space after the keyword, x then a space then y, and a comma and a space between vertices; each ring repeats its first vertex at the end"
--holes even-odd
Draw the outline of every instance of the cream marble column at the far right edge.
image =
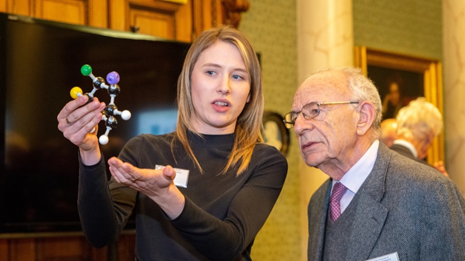
POLYGON ((446 169, 465 194, 465 1, 443 0, 446 169))

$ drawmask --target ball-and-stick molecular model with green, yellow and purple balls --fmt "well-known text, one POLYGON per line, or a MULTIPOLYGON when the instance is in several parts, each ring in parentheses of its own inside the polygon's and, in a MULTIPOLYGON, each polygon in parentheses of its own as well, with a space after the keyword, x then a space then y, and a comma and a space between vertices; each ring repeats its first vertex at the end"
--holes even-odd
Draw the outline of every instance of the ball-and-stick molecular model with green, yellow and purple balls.
MULTIPOLYGON (((114 98, 118 96, 118 94, 121 92, 121 89, 118 85, 119 74, 117 72, 110 72, 109 74, 107 74, 107 82, 110 84, 110 86, 105 84, 105 80, 103 80, 102 77, 96 77, 92 74, 92 67, 90 67, 90 65, 83 65, 81 67, 81 74, 83 74, 83 76, 90 76, 90 78, 92 79, 92 84, 94 85, 94 90, 92 90, 92 92, 83 94, 83 91, 80 87, 73 87, 70 91, 72 98, 76 99, 79 96, 87 95, 89 96, 89 101, 87 101, 87 103, 90 103, 94 99, 95 92, 97 90, 100 90, 101 88, 107 89, 108 94, 110 94, 110 103, 107 105, 107 107, 105 107, 105 109, 102 112, 102 121, 105 121, 105 126, 107 127, 107 129, 105 131, 105 134, 99 137, 99 143, 101 145, 105 145, 108 143, 108 134, 110 133, 110 130, 116 129, 116 127, 118 126, 118 121, 116 121, 116 118, 114 116, 121 115, 121 118, 125 121, 131 118, 130 111, 124 110, 123 112, 121 112, 118 110, 118 107, 116 107, 116 105, 114 104, 114 98)), ((94 129, 92 130, 92 132, 94 132, 94 129)))

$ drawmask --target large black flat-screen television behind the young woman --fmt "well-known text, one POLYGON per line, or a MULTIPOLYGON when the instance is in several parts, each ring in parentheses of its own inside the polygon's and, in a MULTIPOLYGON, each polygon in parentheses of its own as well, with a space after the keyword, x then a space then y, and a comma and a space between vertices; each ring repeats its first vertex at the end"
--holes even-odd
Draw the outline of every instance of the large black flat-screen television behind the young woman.
MULTIPOLYGON (((176 83, 188 43, 0 13, 0 236, 81 231, 78 149, 57 129, 70 90, 92 90, 92 74, 116 71, 115 103, 132 113, 102 145, 105 158, 141 133, 176 127, 176 83)), ((95 96, 108 103, 102 89, 95 96)), ((99 125, 99 136, 105 123, 99 125)), ((128 226, 131 226, 132 222, 128 226)))

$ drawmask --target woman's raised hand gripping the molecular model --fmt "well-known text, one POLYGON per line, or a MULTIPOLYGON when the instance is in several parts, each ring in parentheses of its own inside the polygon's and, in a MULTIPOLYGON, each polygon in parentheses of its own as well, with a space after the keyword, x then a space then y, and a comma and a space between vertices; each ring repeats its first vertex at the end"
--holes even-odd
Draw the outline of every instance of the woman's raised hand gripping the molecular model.
POLYGON ((91 103, 86 104, 87 99, 88 97, 83 95, 66 103, 56 119, 58 129, 63 132, 63 136, 79 147, 83 163, 94 165, 101 158, 99 139, 96 134, 105 103, 94 98, 91 103), (93 132, 92 129, 94 129, 93 132))

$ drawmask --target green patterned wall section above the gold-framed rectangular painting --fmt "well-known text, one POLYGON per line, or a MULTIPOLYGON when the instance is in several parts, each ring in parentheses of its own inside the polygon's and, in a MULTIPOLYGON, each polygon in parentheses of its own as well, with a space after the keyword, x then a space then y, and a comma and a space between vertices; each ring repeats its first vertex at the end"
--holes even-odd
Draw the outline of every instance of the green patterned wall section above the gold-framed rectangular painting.
POLYGON ((355 45, 442 59, 441 0, 353 0, 355 45))

